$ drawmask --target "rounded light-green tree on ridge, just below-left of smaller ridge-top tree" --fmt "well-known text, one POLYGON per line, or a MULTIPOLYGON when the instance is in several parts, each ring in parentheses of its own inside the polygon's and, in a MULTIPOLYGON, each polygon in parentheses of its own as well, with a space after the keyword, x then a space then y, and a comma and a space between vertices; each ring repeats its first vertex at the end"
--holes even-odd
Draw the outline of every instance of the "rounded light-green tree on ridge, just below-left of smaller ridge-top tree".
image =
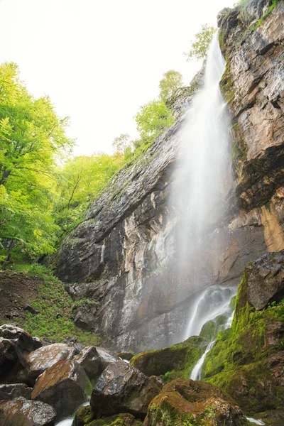
POLYGON ((172 111, 162 101, 151 101, 143 105, 135 119, 144 145, 152 143, 159 133, 175 122, 172 111))

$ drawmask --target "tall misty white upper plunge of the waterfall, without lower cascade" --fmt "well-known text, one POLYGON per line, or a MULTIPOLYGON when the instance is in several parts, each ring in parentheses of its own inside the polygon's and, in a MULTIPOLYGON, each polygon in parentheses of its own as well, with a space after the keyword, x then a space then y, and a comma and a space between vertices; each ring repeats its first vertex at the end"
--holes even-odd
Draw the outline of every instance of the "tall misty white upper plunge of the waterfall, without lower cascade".
POLYGON ((204 252, 207 235, 214 234, 226 212, 231 186, 229 115, 219 89, 225 66, 216 34, 207 55, 204 86, 192 100, 180 134, 169 200, 169 209, 177 218, 177 300, 214 284, 204 252))

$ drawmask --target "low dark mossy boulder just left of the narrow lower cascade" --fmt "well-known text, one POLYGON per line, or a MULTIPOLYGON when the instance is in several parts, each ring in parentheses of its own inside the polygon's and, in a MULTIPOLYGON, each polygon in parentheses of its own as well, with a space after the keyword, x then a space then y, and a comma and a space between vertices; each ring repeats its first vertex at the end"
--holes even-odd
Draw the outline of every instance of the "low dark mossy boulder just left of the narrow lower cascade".
POLYGON ((204 337, 192 336, 180 344, 133 356, 131 365, 146 376, 166 375, 164 381, 168 381, 169 378, 188 378, 207 344, 208 341, 204 337))

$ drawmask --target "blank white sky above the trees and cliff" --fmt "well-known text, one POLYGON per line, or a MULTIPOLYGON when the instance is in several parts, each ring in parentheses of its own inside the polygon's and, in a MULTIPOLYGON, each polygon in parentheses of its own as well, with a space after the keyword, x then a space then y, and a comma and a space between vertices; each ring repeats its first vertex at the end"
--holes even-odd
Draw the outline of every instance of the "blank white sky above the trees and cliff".
POLYGON ((0 0, 0 62, 16 62, 28 90, 71 117, 75 154, 111 153, 133 116, 158 97, 163 73, 188 84, 200 67, 183 52, 236 0, 0 0))

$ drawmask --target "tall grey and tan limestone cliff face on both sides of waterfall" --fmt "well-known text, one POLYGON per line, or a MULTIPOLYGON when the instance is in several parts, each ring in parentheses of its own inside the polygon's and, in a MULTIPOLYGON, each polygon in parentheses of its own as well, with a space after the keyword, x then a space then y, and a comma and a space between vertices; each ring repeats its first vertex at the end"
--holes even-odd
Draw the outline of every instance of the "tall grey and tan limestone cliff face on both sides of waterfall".
MULTIPOLYGON (((197 285, 237 284, 246 263, 284 249, 284 1, 270 6, 253 0, 219 14, 234 182, 179 291, 179 218, 167 201, 184 116, 115 176, 63 241, 58 276, 74 283, 67 288, 75 299, 99 302, 85 328, 109 346, 141 351, 178 342, 197 285)), ((176 116, 191 97, 192 89, 179 94, 176 116)))

